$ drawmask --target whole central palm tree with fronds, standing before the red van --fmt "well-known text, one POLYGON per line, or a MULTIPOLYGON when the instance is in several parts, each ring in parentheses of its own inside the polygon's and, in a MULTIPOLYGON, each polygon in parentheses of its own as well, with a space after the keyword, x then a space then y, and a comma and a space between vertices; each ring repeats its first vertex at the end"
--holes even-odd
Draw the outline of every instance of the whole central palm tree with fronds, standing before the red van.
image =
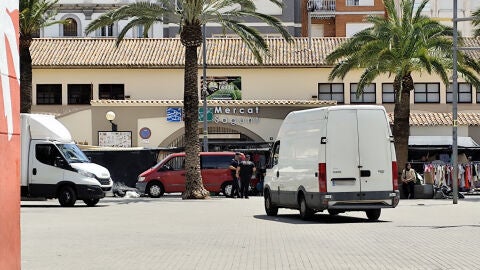
MULTIPOLYGON (((277 0, 270 1, 281 6, 277 0)), ((290 34, 277 18, 258 13, 255 9, 252 0, 177 0, 177 6, 172 5, 170 0, 137 2, 107 12, 87 26, 86 32, 90 33, 113 22, 131 19, 120 32, 117 44, 121 42, 128 30, 135 26, 144 27, 144 36, 157 21, 177 23, 180 26, 180 40, 185 46, 183 106, 186 188, 182 195, 183 199, 203 199, 209 195, 202 184, 198 140, 197 48, 202 44, 202 25, 208 22, 219 23, 225 29, 237 34, 260 63, 262 55, 268 53, 268 46, 255 29, 242 24, 240 19, 258 18, 279 31, 285 39, 291 39, 290 34)))

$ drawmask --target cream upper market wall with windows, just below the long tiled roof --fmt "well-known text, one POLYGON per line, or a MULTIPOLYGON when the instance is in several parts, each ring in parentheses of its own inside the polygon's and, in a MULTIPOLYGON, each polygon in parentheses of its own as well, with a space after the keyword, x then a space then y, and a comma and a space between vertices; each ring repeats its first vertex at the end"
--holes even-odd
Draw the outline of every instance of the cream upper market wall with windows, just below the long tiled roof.
MULTIPOLYGON (((208 69, 207 76, 241 76, 242 97, 244 100, 295 99, 311 100, 318 94, 318 83, 328 83, 330 68, 264 68, 264 69, 208 69)), ((350 83, 358 82, 361 72, 349 73, 345 79, 345 103, 350 102, 350 83)), ((199 72, 199 80, 201 70, 199 72)), ((437 76, 428 74, 414 75, 414 81, 440 82, 437 76)), ((335 80, 333 82, 342 82, 335 80)), ((382 82, 393 82, 393 78, 380 76, 376 83, 376 102, 382 103, 382 82)), ((125 95, 130 99, 183 99, 182 69, 34 69, 33 103, 36 103, 36 84, 61 83, 63 85, 63 104, 67 104, 67 84, 93 84, 93 99, 98 99, 98 84, 125 84, 125 95)), ((472 99, 476 100, 475 89, 472 99)), ((411 103, 414 96, 411 95, 411 103)), ((446 103, 446 88, 440 84, 440 103, 446 103)), ((474 102, 475 103, 475 102, 474 102)), ((473 104, 474 104, 473 103, 473 104)), ((415 104, 414 110, 432 104, 415 104)), ((434 104, 438 105, 438 104, 434 104)), ((448 104, 447 104, 448 105, 448 104)), ((472 104, 465 109, 478 110, 472 104)), ((43 107, 43 106, 38 106, 43 107)), ((39 108, 41 109, 41 108, 39 108)))

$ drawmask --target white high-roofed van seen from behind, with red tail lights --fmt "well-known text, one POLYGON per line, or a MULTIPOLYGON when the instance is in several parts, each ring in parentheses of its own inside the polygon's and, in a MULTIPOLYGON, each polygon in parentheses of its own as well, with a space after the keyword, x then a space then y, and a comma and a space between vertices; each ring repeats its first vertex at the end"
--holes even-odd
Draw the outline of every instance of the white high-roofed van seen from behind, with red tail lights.
POLYGON ((335 106, 287 115, 272 149, 264 183, 265 211, 299 209, 303 219, 399 202, 393 136, 382 106, 335 106))

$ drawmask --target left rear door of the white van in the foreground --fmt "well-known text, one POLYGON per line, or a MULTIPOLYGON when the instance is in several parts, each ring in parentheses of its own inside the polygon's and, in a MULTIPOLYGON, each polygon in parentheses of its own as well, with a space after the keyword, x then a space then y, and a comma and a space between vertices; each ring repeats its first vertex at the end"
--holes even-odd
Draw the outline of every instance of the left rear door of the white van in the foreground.
POLYGON ((329 193, 360 191, 357 134, 357 110, 329 111, 325 151, 329 193))

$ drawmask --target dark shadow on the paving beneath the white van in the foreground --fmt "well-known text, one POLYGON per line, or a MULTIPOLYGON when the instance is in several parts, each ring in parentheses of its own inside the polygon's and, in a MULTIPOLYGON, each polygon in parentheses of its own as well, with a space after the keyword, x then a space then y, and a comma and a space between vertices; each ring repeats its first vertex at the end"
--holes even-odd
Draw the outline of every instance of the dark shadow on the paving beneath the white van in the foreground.
POLYGON ((282 223, 289 223, 289 224, 339 224, 339 223, 381 223, 381 222, 391 222, 391 221, 370 221, 367 218, 358 218, 358 217, 349 217, 349 216, 342 216, 341 214, 338 216, 331 216, 329 214, 315 214, 311 220, 305 221, 300 218, 300 215, 295 214, 286 214, 286 215, 278 215, 275 217, 267 216, 267 215, 255 215, 253 216, 257 219, 263 220, 270 220, 282 223))

